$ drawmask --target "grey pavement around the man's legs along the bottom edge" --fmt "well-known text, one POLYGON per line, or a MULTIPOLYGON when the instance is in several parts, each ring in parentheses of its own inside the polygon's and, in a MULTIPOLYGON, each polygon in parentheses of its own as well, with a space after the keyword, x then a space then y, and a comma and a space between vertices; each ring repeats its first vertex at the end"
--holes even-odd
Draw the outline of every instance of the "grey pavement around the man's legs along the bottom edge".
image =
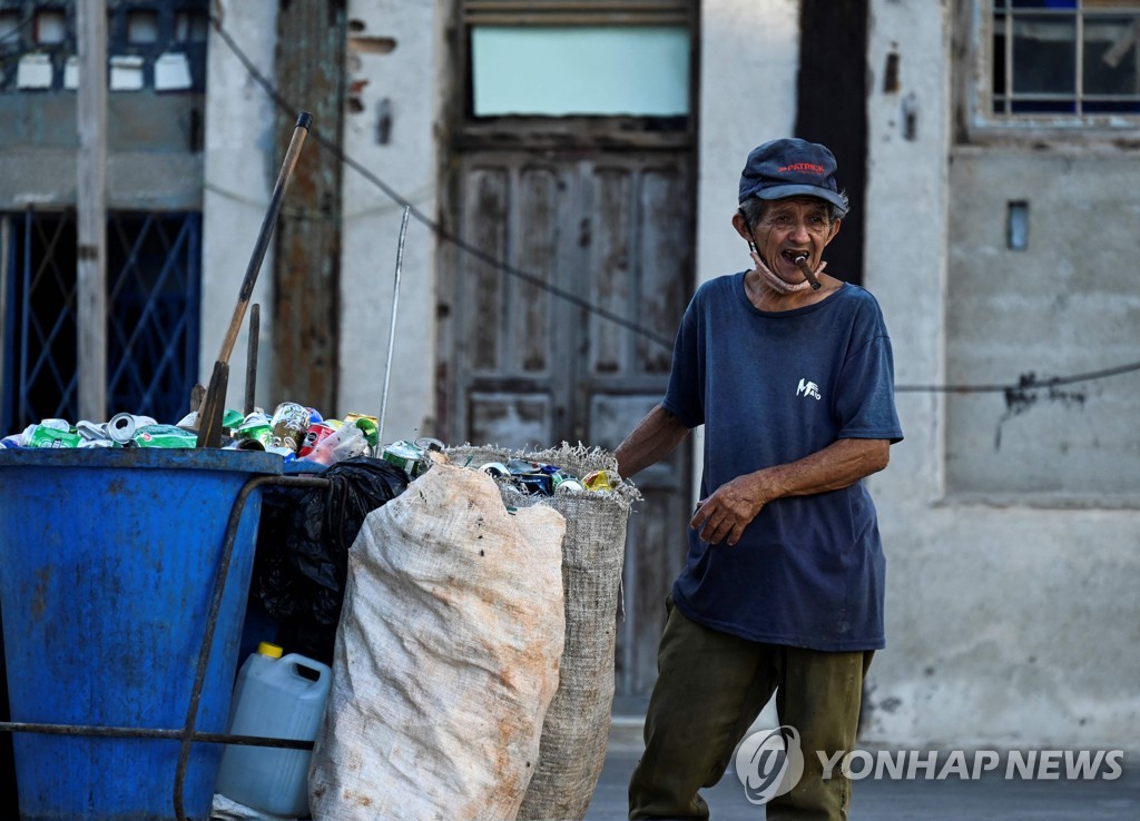
MULTIPOLYGON (((641 721, 616 717, 586 821, 624 821, 626 785, 641 752, 641 721)), ((866 778, 853 785, 849 821, 1138 821, 1140 753, 1125 753, 1121 770, 1112 781, 1005 780, 1002 767, 978 780, 866 778)), ((714 821, 764 819, 764 807, 748 802, 732 767, 701 795, 714 821)))

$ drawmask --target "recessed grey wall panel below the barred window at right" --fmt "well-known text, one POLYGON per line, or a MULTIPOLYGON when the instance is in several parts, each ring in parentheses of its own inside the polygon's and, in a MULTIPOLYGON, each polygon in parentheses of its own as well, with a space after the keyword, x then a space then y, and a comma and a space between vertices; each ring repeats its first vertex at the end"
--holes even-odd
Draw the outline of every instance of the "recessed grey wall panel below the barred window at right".
MULTIPOLYGON (((958 149, 951 166, 947 372, 1016 383, 1135 362, 1140 334, 1140 153, 1110 147, 958 149), (1028 245, 1007 247, 1010 202, 1028 245)), ((947 401, 954 495, 1140 501, 1140 375, 947 401)))

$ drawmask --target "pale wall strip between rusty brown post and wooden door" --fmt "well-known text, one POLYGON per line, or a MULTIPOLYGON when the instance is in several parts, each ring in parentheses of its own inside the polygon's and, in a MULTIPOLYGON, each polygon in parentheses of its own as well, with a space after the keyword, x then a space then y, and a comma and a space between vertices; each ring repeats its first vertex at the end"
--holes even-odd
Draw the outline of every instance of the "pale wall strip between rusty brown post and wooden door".
MULTIPOLYGON (((435 219, 441 3, 349 3, 344 151, 435 219), (386 104, 384 102, 386 101, 386 104), (391 113, 380 141, 382 108, 391 113)), ((344 170, 340 412, 378 413, 402 208, 358 171, 344 170)), ((434 435, 434 235, 412 219, 404 248, 384 440, 434 435)))

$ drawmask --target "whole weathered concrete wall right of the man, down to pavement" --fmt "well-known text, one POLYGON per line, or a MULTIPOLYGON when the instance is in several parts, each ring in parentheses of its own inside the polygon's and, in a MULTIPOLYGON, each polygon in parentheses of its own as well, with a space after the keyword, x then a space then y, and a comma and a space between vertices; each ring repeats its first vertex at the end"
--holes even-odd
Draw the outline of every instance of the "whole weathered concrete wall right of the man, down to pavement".
MULTIPOLYGON (((1135 238, 1106 222, 1135 224, 1130 181, 1110 180, 1126 166, 1028 145, 955 148, 944 11, 919 0, 871 7, 866 282, 886 313, 898 383, 1009 383, 1129 359, 1135 289, 1119 271, 1135 238), (876 80, 891 51, 902 87, 885 93, 876 80), (909 95, 914 140, 901 129, 909 95), (1010 199, 1031 202, 1031 251, 1020 255, 1004 249, 1010 199)), ((1126 422, 1108 422, 1101 448, 1121 451, 1114 461, 1082 434, 1130 394, 1116 383, 1074 387, 1088 389, 1083 409, 1047 401, 1008 420, 1002 459, 991 453, 1001 394, 899 393, 906 441, 870 483, 888 556, 888 647, 871 670, 864 738, 1135 746, 1140 517, 1098 507, 1096 478, 1134 476, 1135 441, 1126 422), (1028 492, 1061 474, 1066 492, 1089 491, 1085 507, 1028 492), (994 489, 1015 492, 1000 503, 964 493, 994 489)))

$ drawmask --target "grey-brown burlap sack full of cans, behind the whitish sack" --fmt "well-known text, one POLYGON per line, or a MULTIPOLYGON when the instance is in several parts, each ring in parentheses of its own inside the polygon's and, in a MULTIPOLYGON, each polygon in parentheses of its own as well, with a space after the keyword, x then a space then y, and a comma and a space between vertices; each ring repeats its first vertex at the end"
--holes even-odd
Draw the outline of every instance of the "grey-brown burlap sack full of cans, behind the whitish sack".
MULTIPOLYGON (((447 453, 454 465, 469 467, 528 459, 559 466, 578 477, 593 470, 617 475, 612 453, 565 443, 543 451, 464 445, 448 449, 447 453)), ((553 508, 567 523, 562 541, 567 633, 559 689, 546 712, 538 770, 518 818, 581 819, 605 764, 626 524, 633 502, 641 495, 628 482, 621 482, 612 492, 553 496, 524 495, 505 482, 500 490, 506 504, 520 511, 536 504, 553 508)))

